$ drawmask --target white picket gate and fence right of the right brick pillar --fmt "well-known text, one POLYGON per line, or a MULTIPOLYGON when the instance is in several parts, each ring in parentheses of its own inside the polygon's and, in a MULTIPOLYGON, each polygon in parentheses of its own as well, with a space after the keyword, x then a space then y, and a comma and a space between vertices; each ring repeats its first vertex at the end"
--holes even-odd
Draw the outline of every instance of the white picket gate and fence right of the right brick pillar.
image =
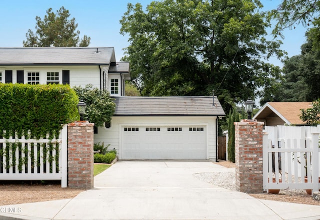
POLYGON ((319 190, 319 133, 319 126, 265 126, 263 134, 264 190, 319 190), (304 180, 304 176, 307 181, 304 180))

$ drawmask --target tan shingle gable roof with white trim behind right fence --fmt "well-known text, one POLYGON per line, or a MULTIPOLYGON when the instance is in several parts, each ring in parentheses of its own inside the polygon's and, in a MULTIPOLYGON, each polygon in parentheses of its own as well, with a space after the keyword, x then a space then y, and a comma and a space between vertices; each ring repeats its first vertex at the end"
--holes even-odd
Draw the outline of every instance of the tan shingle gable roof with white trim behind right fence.
POLYGON ((276 114, 286 124, 305 124, 301 119, 301 109, 311 107, 311 102, 267 102, 253 116, 253 119, 263 120, 271 113, 276 114))

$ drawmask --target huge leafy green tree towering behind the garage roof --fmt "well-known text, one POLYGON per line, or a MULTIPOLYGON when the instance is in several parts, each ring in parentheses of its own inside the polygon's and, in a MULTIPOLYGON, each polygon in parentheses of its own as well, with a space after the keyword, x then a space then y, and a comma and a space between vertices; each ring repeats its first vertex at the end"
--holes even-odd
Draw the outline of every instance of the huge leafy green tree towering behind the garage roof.
POLYGON ((259 1, 152 2, 144 11, 128 4, 120 33, 129 36, 124 60, 146 96, 215 95, 225 111, 269 88, 280 69, 264 62, 281 58, 280 41, 267 41, 270 27, 259 1))

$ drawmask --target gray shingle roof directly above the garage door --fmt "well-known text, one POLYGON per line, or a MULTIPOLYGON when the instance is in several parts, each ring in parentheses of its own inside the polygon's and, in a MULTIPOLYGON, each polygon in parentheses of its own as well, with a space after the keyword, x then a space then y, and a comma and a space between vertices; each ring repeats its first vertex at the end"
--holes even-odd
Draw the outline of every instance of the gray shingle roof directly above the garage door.
POLYGON ((224 116, 214 96, 116 97, 114 116, 224 116))

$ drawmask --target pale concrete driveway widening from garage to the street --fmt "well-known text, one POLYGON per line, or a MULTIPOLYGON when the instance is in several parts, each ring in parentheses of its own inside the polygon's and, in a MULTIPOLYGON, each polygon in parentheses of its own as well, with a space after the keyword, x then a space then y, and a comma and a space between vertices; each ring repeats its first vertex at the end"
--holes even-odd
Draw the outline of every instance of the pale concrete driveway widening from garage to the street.
POLYGON ((193 176, 223 171, 210 161, 118 161, 94 178, 94 189, 0 206, 0 219, 320 219, 320 206, 255 199, 193 176))

